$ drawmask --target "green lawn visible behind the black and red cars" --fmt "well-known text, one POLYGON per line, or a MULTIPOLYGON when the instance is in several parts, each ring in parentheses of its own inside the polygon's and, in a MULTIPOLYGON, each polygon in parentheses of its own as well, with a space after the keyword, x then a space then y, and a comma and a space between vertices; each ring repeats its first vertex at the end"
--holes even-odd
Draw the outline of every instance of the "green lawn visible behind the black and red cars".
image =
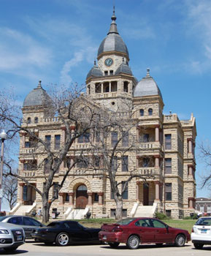
MULTIPOLYGON (((77 219, 85 227, 101 227, 104 223, 115 223, 115 219, 77 219)), ((162 220, 171 227, 183 228, 191 233, 196 219, 164 219, 162 220)))

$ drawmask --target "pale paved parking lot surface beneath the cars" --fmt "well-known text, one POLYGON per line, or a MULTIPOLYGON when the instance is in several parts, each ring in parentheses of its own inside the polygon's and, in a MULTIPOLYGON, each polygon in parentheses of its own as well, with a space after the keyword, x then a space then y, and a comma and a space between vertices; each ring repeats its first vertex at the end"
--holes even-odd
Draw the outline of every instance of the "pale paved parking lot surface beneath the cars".
POLYGON ((156 245, 140 245, 139 249, 130 250, 124 244, 120 244, 117 249, 111 249, 107 245, 76 245, 76 246, 46 246, 41 243, 27 242, 22 246, 18 247, 16 252, 7 253, 4 250, 0 250, 0 255, 27 255, 27 256, 87 256, 87 255, 97 255, 97 256, 128 256, 128 255, 150 255, 150 256, 195 256, 195 255, 210 255, 211 246, 204 246, 203 250, 196 250, 193 248, 191 242, 185 244, 185 247, 174 247, 164 245, 158 247, 156 245))

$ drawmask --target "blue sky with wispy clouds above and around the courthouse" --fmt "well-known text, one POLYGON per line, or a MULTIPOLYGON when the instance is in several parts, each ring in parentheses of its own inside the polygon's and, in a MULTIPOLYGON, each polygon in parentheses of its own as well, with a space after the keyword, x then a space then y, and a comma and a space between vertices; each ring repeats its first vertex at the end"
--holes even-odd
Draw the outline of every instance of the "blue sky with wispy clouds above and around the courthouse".
MULTIPOLYGON (((110 28, 113 0, 0 0, 0 86, 22 104, 38 80, 85 83, 110 28)), ((197 143, 210 140, 210 0, 115 0, 118 31, 140 80, 158 83, 164 113, 196 116, 197 143)), ((197 145, 196 145, 197 147, 197 145)), ((197 154, 197 151, 196 151, 197 154)), ((197 196, 205 171, 197 159, 197 196)))

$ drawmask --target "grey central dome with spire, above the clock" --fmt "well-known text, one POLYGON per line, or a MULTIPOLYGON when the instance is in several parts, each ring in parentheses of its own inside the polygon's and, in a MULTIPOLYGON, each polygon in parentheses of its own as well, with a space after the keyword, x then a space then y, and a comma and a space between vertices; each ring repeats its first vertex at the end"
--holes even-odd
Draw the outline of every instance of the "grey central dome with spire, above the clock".
POLYGON ((117 24, 115 23, 115 20, 116 16, 114 10, 112 15, 110 31, 108 32, 107 37, 103 39, 99 46, 98 57, 101 55, 101 53, 117 51, 120 53, 125 53, 127 59, 129 59, 128 48, 126 47, 125 42, 118 33, 117 24))

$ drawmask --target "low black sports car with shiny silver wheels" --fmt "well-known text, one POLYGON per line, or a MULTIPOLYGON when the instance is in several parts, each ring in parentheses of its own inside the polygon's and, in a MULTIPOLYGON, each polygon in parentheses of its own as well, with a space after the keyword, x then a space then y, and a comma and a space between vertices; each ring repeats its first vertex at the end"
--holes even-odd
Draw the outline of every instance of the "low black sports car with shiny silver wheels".
POLYGON ((69 244, 99 244, 100 228, 83 227, 78 222, 64 220, 51 222, 47 227, 34 230, 31 237, 45 244, 55 243, 58 246, 69 244))

